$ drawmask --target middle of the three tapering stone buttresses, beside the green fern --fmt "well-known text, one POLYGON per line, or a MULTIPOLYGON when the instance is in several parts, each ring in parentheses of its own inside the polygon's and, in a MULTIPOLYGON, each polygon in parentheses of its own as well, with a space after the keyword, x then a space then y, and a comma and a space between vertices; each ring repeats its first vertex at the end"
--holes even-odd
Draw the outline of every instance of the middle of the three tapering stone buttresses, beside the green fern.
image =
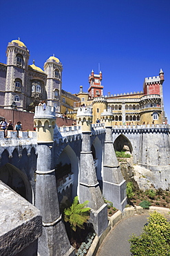
POLYGON ((100 236, 107 228, 107 205, 100 192, 91 150, 92 109, 85 107, 78 109, 77 120, 82 127, 83 134, 79 200, 81 203, 86 200, 89 201, 88 206, 91 208, 90 221, 96 234, 100 236))

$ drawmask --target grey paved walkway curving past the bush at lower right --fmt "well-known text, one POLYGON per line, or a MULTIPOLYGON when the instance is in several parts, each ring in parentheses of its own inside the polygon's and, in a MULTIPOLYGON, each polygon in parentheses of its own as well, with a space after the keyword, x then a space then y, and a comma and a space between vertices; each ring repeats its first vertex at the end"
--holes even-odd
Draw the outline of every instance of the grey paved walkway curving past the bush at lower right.
POLYGON ((130 256, 129 236, 140 235, 149 215, 134 215, 120 221, 107 235, 96 256, 130 256))

